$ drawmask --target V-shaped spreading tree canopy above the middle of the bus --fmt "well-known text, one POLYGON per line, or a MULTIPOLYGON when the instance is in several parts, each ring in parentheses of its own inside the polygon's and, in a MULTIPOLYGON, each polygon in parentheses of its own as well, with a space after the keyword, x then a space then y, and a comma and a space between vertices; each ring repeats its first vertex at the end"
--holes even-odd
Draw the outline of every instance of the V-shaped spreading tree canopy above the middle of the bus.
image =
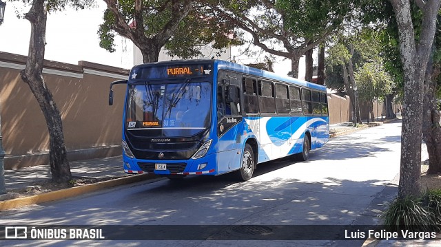
POLYGON ((244 43, 291 60, 298 77, 300 57, 334 32, 351 9, 350 1, 220 0, 212 6, 222 17, 247 32, 244 43))

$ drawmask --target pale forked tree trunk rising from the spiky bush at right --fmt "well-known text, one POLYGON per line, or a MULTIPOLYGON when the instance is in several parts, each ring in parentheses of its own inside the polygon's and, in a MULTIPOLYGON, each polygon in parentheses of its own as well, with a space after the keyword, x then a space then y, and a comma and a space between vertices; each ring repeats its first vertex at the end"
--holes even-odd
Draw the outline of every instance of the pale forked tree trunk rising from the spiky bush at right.
POLYGON ((436 15, 440 1, 418 1, 422 10, 419 43, 415 32, 409 1, 391 0, 395 12, 400 40, 400 53, 404 71, 404 100, 402 107, 400 184, 398 197, 420 194, 421 136, 422 136, 422 84, 435 35, 436 15))

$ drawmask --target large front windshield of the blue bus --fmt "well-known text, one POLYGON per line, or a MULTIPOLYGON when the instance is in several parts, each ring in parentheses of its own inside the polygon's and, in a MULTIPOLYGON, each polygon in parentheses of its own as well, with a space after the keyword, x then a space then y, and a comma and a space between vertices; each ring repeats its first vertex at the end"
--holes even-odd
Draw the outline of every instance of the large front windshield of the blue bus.
POLYGON ((129 86, 125 127, 147 136, 193 136, 210 124, 210 83, 143 83, 129 86))

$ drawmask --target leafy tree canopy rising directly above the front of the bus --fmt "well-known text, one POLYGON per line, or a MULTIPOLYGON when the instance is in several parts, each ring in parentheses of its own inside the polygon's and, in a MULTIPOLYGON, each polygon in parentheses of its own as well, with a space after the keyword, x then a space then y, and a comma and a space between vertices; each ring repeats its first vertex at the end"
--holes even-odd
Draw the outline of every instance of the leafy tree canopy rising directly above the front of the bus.
POLYGON ((206 1, 104 1, 100 46, 114 52, 114 37, 119 34, 139 47, 144 63, 157 61, 163 47, 171 56, 192 58, 212 41, 218 49, 237 43, 229 22, 214 17, 206 1))

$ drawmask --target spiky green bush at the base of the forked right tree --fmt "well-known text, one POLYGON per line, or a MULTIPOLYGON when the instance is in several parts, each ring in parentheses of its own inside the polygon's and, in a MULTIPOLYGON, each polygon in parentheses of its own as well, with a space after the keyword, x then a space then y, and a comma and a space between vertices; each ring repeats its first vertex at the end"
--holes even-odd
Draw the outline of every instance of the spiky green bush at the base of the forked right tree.
MULTIPOLYGON (((430 200, 430 202, 433 201, 430 200)), ((411 231, 439 230, 437 228, 437 221, 439 219, 437 219, 435 213, 428 206, 424 206, 422 198, 397 198, 389 204, 389 207, 382 213, 381 217, 384 226, 387 230, 391 231, 404 229, 411 231)))

